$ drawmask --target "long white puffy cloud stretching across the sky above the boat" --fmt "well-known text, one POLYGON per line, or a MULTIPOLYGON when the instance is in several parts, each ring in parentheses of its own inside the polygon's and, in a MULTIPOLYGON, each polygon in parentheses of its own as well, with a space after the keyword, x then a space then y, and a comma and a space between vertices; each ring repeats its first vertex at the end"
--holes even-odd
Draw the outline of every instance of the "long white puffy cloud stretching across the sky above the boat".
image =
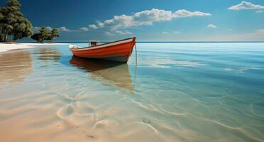
POLYGON ((165 11, 163 9, 151 9, 133 13, 131 16, 125 14, 114 16, 106 21, 97 21, 97 25, 89 25, 90 28, 110 28, 111 31, 119 28, 131 28, 135 26, 153 25, 154 22, 171 21, 173 18, 192 17, 192 16, 211 16, 211 13, 200 11, 187 11, 181 9, 175 12, 165 11))

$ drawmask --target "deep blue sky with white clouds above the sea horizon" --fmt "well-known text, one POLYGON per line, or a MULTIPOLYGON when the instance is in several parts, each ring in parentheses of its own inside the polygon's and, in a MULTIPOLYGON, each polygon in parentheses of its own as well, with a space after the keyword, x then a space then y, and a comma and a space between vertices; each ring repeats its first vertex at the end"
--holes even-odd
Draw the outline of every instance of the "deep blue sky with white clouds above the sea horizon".
POLYGON ((20 1, 34 30, 59 28, 60 41, 264 40, 263 0, 20 1))

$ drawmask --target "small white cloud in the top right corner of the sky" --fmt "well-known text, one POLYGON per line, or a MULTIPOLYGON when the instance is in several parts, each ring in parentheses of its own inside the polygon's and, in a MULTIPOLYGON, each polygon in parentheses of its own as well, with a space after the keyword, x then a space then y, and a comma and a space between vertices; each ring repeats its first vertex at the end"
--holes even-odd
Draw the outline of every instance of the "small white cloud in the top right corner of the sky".
POLYGON ((248 1, 241 1, 240 4, 229 7, 229 10, 244 10, 244 9, 264 9, 264 6, 252 4, 248 1))

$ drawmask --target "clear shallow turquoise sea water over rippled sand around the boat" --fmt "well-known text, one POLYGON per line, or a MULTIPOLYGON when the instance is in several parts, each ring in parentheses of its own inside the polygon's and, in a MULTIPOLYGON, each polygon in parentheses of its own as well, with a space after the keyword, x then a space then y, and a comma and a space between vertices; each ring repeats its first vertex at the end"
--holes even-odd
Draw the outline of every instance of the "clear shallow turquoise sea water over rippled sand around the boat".
POLYGON ((67 45, 0 54, 0 137, 263 141, 264 43, 137 49, 127 65, 72 58, 67 45))

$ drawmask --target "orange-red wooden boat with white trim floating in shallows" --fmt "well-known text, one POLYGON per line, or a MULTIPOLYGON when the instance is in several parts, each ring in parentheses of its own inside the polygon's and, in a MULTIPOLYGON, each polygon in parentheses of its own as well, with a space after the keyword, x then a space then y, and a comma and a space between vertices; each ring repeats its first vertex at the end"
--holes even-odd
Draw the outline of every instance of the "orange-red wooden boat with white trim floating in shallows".
POLYGON ((135 44, 136 37, 133 37, 104 44, 98 44, 97 41, 90 41, 89 46, 86 48, 80 48, 76 45, 70 45, 69 48, 73 55, 81 58, 128 62, 135 44))

